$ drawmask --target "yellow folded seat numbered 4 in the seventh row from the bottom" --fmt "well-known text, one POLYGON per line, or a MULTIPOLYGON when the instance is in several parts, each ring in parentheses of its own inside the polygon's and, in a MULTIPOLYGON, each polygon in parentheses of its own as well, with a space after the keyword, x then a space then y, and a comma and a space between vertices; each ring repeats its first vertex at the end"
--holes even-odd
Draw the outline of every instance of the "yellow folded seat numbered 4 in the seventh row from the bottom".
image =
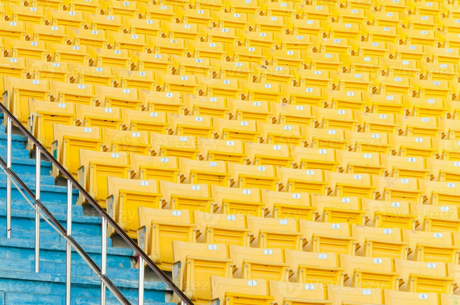
POLYGON ((178 136, 204 136, 213 138, 214 127, 211 126, 211 119, 207 116, 189 116, 168 113, 167 121, 170 126, 170 133, 178 136))

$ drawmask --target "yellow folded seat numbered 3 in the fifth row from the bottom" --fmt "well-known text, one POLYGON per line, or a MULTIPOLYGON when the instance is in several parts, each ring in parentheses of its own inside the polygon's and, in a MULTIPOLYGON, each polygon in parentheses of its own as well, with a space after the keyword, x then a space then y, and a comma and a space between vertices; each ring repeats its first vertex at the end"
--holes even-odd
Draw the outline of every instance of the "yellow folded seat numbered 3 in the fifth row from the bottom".
POLYGON ((179 158, 180 181, 190 184, 212 184, 228 186, 230 174, 225 172, 224 161, 198 161, 179 158))

